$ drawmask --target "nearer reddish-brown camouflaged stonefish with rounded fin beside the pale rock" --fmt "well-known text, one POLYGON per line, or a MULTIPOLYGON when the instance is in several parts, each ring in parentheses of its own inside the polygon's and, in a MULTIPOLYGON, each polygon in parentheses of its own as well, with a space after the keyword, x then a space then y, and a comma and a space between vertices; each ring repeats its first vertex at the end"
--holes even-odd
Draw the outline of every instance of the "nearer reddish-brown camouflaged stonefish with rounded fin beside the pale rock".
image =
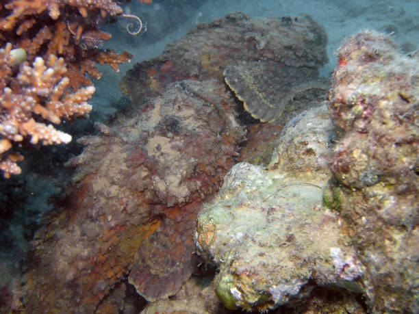
POLYGON ((224 86, 182 81, 82 139, 70 205, 36 235, 25 310, 92 313, 126 276, 149 300, 175 294, 192 274, 196 211, 244 134, 234 107, 224 86))

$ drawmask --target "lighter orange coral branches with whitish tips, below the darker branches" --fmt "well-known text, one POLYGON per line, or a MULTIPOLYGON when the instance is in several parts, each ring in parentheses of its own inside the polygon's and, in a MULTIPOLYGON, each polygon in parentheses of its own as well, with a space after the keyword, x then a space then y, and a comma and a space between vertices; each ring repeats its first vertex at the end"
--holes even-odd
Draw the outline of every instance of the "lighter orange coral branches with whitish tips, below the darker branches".
POLYGON ((0 50, 0 170, 6 178, 21 173, 16 161, 23 157, 7 153, 14 142, 29 136, 31 144, 71 142, 71 135, 42 119, 59 124, 62 118, 88 114, 92 106, 86 101, 95 91, 93 86, 69 91, 70 79, 64 76, 67 69, 62 57, 49 55, 47 62, 36 57, 32 65, 23 62, 17 71, 14 64, 12 44, 7 44, 0 50))

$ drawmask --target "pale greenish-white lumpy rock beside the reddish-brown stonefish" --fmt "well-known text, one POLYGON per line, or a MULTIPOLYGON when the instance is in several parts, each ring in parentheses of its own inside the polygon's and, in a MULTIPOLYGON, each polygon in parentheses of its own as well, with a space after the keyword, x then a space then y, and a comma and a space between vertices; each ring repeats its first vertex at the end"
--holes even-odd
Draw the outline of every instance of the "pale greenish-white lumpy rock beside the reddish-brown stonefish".
POLYGON ((355 250, 340 232, 339 216, 322 207, 333 136, 325 105, 301 114, 275 149, 288 155, 274 156, 271 170, 236 164, 199 213, 196 246, 220 267, 214 286, 227 307, 293 304, 309 296, 313 283, 360 291, 355 250))

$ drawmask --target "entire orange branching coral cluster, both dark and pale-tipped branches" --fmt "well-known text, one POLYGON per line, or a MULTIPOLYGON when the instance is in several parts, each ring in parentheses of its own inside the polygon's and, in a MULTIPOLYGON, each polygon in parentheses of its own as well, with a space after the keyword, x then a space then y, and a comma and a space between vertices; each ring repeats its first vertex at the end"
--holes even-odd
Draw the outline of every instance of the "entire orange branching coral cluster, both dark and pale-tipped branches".
POLYGON ((31 144, 71 141, 71 135, 45 122, 59 124, 62 118, 90 112, 92 107, 86 101, 92 97, 94 87, 86 74, 100 79, 97 63, 118 72, 119 64, 131 60, 127 51, 99 49, 112 35, 99 31, 97 25, 107 16, 116 15, 138 21, 135 31, 132 24, 128 25, 129 34, 142 31, 140 18, 123 14, 112 0, 2 1, 0 170, 6 178, 21 173, 17 161, 23 156, 12 153, 14 143, 29 137, 31 144))

